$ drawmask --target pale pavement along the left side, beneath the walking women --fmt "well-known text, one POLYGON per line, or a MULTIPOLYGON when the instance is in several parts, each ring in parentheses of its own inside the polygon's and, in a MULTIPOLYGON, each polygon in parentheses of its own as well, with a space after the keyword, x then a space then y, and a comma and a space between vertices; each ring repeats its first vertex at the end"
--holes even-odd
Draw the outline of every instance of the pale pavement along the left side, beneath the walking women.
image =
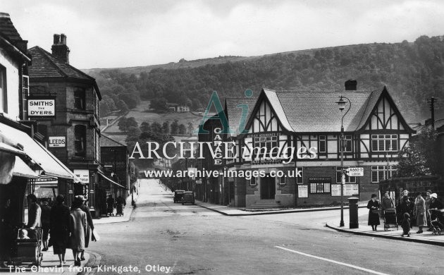
MULTIPOLYGON (((137 202, 138 195, 136 193, 134 195, 134 200, 137 202)), ((101 219, 93 219, 94 225, 97 224, 113 224, 120 223, 124 221, 129 221, 130 216, 132 214, 132 205, 131 205, 131 195, 126 198, 126 206, 123 209, 123 216, 108 216, 102 217, 101 219)), ((116 209, 114 209, 114 214, 116 214, 116 209)), ((90 242, 90 247, 94 247, 94 242, 90 242)), ((73 267, 74 257, 73 253, 70 249, 66 251, 65 259, 66 265, 63 268, 57 268, 58 265, 58 256, 54 255, 52 247, 49 247, 48 251, 43 251, 43 259, 41 267, 27 267, 25 265, 20 267, 1 267, 0 272, 5 273, 20 273, 20 274, 88 274, 94 272, 94 267, 100 263, 100 256, 94 252, 88 252, 90 247, 85 251, 85 260, 81 262, 80 267, 73 267)))

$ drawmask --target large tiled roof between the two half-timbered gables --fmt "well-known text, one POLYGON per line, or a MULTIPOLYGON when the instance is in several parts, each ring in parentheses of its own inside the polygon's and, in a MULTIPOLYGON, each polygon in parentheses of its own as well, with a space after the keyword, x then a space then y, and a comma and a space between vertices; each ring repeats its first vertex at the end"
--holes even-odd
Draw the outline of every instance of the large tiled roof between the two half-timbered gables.
POLYGON ((342 92, 297 92, 264 90, 274 111, 284 128, 300 133, 339 132, 343 114, 339 111, 339 97, 347 97, 352 102, 350 111, 344 117, 345 132, 358 130, 366 122, 382 91, 342 91, 342 92), (276 99, 277 97, 277 99, 276 99))

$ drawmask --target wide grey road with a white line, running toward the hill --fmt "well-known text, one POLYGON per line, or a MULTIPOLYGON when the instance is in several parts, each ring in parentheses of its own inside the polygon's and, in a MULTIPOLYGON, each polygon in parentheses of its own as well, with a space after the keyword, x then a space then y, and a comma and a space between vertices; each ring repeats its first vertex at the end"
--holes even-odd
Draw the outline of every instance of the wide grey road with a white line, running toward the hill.
POLYGON ((154 180, 143 180, 140 194, 130 221, 97 225, 101 240, 89 249, 102 265, 140 274, 442 274, 444 267, 442 247, 319 226, 334 211, 223 216, 173 203, 154 180))

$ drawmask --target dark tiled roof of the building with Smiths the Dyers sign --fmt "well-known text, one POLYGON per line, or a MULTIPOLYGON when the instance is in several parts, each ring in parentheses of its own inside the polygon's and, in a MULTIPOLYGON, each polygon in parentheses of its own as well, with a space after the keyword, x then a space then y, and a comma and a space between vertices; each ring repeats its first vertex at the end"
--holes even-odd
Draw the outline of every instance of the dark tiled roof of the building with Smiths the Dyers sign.
POLYGON ((28 50, 32 56, 32 66, 29 66, 30 78, 77 78, 94 81, 90 75, 56 59, 52 54, 36 46, 28 50))

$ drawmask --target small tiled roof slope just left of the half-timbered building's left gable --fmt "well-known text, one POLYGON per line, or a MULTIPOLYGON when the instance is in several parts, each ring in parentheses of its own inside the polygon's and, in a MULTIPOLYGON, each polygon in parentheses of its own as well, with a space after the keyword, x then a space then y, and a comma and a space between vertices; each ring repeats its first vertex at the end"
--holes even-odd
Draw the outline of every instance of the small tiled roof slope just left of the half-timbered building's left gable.
POLYGON ((248 106, 248 113, 245 116, 245 123, 248 121, 249 116, 252 114, 254 104, 257 102, 257 97, 239 97, 239 98, 227 98, 226 99, 226 116, 228 118, 228 125, 230 130, 235 132, 232 136, 238 135, 240 119, 242 118, 242 106, 240 104, 246 104, 248 106))

